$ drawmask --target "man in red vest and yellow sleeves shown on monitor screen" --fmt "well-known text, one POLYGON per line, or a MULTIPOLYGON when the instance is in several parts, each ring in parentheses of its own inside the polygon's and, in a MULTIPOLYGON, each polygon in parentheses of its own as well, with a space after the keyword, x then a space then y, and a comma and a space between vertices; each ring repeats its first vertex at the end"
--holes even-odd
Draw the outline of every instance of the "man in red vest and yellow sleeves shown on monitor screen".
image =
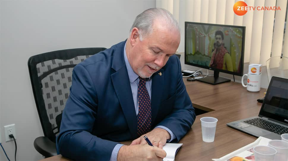
POLYGON ((215 45, 216 47, 212 52, 211 61, 209 66, 217 69, 223 69, 227 71, 233 71, 232 61, 230 54, 224 47, 224 35, 222 31, 215 32, 215 45))

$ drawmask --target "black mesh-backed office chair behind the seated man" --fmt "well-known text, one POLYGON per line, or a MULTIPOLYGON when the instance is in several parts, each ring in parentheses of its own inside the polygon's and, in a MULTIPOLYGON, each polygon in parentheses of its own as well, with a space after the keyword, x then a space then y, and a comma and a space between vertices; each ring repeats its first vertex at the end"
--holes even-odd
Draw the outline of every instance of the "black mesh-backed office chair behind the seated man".
POLYGON ((45 157, 57 155, 56 136, 69 97, 73 68, 106 48, 77 48, 31 56, 28 68, 34 99, 44 136, 34 140, 35 149, 45 157))

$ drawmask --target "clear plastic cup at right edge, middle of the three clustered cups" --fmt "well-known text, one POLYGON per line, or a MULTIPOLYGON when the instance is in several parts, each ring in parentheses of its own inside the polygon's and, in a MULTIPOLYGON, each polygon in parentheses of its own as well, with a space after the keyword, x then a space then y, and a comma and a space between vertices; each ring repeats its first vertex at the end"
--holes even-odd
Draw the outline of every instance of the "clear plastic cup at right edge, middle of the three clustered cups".
POLYGON ((269 147, 273 147, 277 150, 274 160, 287 161, 288 158, 288 142, 282 140, 270 140, 268 142, 269 147))

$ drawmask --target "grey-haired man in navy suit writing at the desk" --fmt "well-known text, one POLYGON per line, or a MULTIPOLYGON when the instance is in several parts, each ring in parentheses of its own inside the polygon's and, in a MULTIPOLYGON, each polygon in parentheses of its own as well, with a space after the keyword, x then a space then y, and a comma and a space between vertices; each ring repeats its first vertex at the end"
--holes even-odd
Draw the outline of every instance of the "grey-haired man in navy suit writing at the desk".
POLYGON ((179 43, 173 15, 148 9, 127 40, 75 66, 58 153, 73 160, 162 160, 164 144, 178 142, 196 117, 174 56, 179 43), (125 140, 133 141, 119 143, 125 140))

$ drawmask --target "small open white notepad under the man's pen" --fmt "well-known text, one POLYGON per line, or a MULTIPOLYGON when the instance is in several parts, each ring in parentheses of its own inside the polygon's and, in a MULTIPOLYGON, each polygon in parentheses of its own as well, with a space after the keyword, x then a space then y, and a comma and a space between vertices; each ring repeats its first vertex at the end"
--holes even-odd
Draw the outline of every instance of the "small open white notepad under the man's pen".
POLYGON ((163 150, 166 152, 166 157, 163 161, 174 161, 175 155, 183 144, 166 143, 163 150))

